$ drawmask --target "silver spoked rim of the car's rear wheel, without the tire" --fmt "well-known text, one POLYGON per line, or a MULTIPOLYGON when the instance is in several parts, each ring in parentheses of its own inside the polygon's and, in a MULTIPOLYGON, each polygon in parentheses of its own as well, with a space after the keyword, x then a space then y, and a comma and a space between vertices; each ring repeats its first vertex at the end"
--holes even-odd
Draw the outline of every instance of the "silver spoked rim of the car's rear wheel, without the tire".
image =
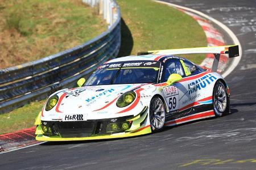
POLYGON ((216 88, 214 89, 214 107, 219 112, 224 112, 226 110, 226 90, 223 84, 217 84, 216 88))

